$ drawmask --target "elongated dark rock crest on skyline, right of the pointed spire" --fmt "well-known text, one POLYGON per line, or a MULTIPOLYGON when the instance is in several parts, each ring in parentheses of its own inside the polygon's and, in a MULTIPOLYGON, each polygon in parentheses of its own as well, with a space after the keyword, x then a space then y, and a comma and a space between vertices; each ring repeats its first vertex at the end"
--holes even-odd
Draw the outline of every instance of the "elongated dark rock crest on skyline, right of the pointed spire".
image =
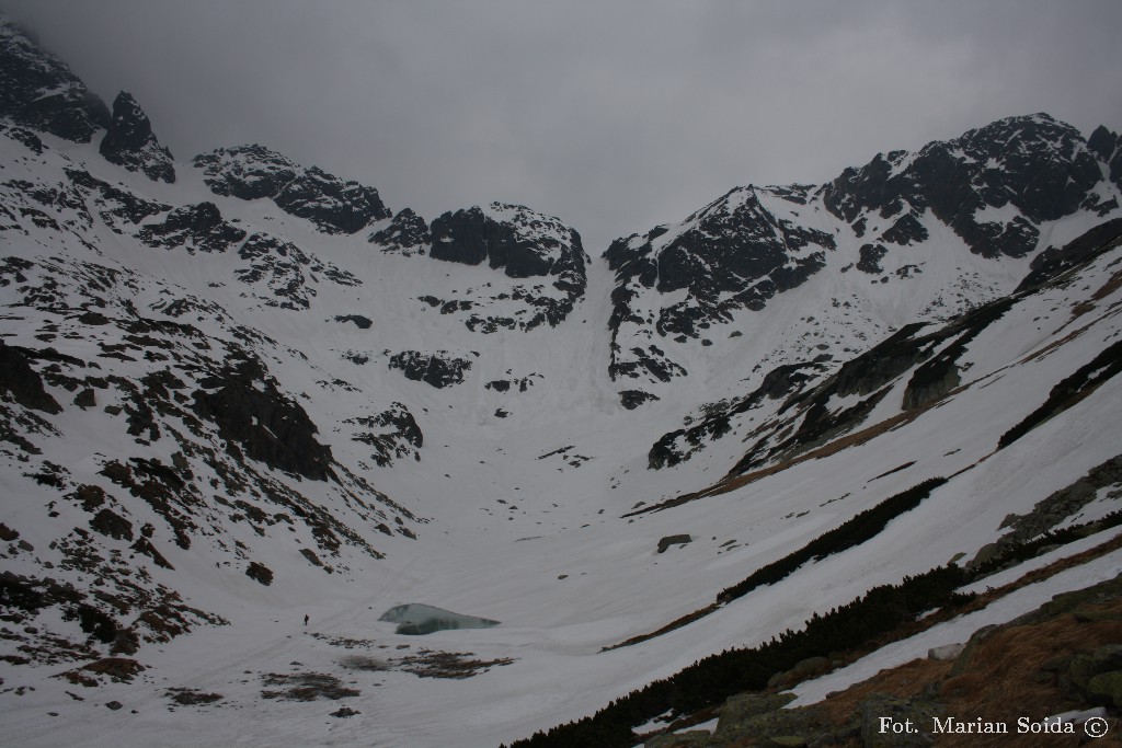
POLYGON ((217 195, 268 197, 289 215, 307 219, 324 233, 356 233, 388 219, 378 191, 313 166, 304 168, 263 146, 219 148, 195 156, 203 182, 217 195))

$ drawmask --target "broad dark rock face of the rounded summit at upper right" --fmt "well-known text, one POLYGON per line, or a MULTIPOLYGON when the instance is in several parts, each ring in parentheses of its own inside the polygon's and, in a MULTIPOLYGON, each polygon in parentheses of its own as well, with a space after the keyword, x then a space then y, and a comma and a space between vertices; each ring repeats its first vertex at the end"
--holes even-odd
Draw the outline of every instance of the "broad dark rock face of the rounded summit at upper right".
MULTIPOLYGON (((1105 147, 1107 138, 1096 144, 1105 147)), ((1101 181, 1094 151, 1079 132, 1047 114, 1014 117, 971 130, 949 142, 928 144, 914 156, 879 155, 826 185, 826 207, 857 225, 865 213, 903 214, 880 239, 907 243, 926 236, 916 215, 925 210, 984 257, 1023 256, 1036 249, 1037 227, 1068 215, 1101 181), (1011 205, 1006 221, 978 218, 1011 205), (922 232, 922 233, 921 233, 922 232)))

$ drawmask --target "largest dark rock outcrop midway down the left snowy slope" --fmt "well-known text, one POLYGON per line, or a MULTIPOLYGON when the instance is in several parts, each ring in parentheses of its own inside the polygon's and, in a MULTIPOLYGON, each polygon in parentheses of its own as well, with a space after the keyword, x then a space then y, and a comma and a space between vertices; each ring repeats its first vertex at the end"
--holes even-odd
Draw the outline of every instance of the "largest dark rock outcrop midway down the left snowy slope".
POLYGON ((236 361, 202 385, 205 389, 193 396, 194 412, 218 426, 228 447, 311 480, 331 477, 331 447, 316 441, 319 430, 307 413, 280 394, 259 361, 236 361))

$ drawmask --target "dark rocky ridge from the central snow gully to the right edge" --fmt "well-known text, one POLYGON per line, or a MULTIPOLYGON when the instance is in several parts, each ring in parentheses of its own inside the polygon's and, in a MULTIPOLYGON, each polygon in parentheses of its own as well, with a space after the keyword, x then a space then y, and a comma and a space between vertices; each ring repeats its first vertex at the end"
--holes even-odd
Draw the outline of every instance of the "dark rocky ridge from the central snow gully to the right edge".
MULTIPOLYGON (((605 252, 616 274, 609 373, 652 384, 682 376, 680 353, 657 338, 711 344, 707 330, 806 283, 835 251, 835 234, 849 230, 863 243, 840 270, 856 267, 874 283, 922 274, 922 260, 899 258, 930 241, 937 223, 987 259, 1034 252, 1046 223, 1119 209, 1114 164, 1122 172, 1122 139, 1112 131, 1098 128, 1088 141, 1069 124, 1033 114, 916 154, 879 155, 820 187, 735 188, 679 224, 618 239, 605 252)), ((949 293, 964 298, 957 288, 949 293)), ((940 295, 927 311, 945 304, 940 295)))

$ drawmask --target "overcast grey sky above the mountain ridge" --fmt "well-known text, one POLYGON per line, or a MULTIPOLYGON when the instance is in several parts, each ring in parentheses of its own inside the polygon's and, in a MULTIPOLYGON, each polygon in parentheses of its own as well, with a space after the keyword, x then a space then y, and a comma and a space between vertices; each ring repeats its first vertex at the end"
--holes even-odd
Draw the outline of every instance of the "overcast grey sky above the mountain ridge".
POLYGON ((261 142, 427 219, 493 200, 590 253, 1047 111, 1122 130, 1119 0, 0 0, 180 160, 261 142))

